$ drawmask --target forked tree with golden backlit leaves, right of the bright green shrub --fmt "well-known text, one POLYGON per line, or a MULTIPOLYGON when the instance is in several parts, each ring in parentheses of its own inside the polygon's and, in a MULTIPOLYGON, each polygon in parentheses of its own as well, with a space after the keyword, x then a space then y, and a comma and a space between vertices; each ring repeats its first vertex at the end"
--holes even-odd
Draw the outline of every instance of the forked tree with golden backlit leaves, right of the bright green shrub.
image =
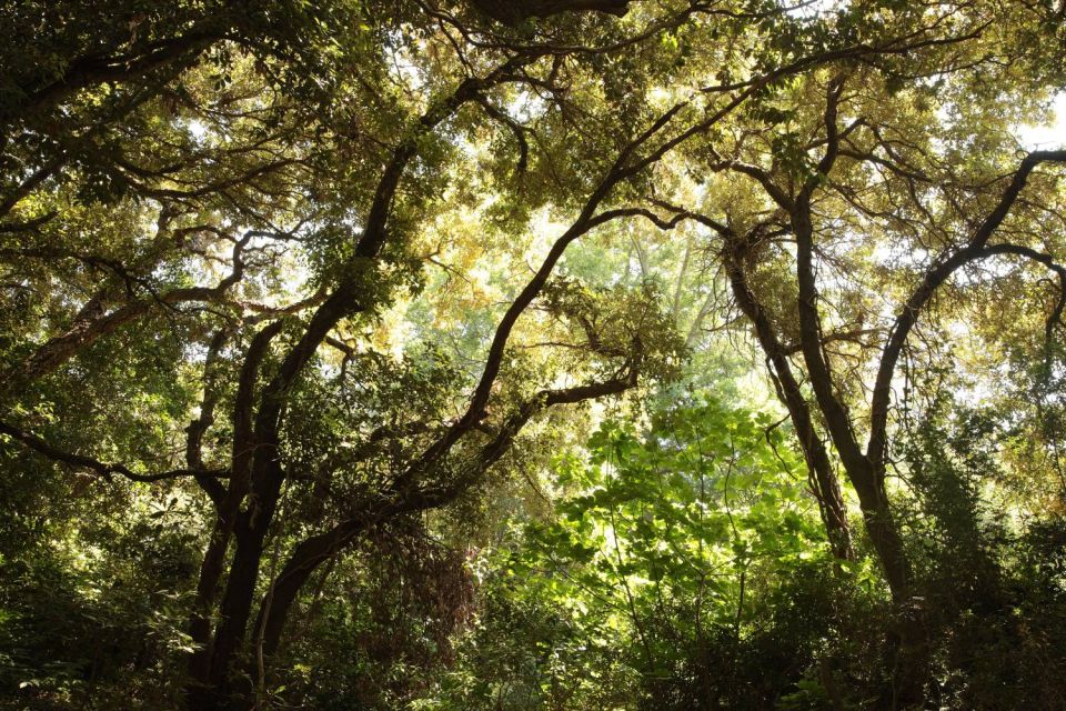
MULTIPOLYGON (((881 12, 851 8, 837 22, 858 37, 879 34, 885 24, 866 23, 881 12)), ((1024 44, 1030 23, 1047 18, 1035 8, 1004 14, 980 6, 954 18, 949 34, 915 46, 906 59, 845 60, 774 87, 753 102, 734 137, 694 157, 710 174, 728 176, 707 179, 722 203, 708 201, 710 214, 674 210, 721 240, 712 249, 765 353, 842 559, 852 548, 819 430, 858 495, 899 607, 902 703, 923 697, 928 649, 926 611, 886 485, 899 359, 919 319, 934 318, 935 297, 977 261, 1009 257, 1050 270, 1057 294, 1046 310, 1048 339, 1066 293, 1059 240, 1042 229, 1034 209, 1060 214, 1060 174, 1037 169, 1066 161, 1066 151, 1020 152, 1010 133, 1018 114, 1004 109, 1025 106, 1054 81, 1046 57, 1024 44), (979 88, 986 82, 999 90, 979 88), (767 124, 776 127, 773 136, 760 133, 767 124), (732 176, 754 192, 737 189, 732 176), (1000 232, 1010 237, 994 240, 1000 232), (878 253, 884 249, 891 258, 878 253), (878 293, 903 296, 886 308, 878 293)))

